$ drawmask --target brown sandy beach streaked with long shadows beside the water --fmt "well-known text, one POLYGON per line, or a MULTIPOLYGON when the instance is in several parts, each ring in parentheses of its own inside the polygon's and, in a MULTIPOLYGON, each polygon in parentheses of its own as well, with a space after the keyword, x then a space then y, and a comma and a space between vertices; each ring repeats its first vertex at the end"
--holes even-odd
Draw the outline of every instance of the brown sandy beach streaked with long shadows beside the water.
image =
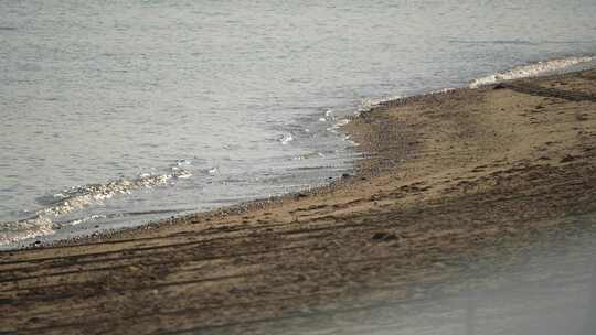
POLYGON ((370 154, 329 187, 0 253, 0 333, 300 333, 596 230, 596 71, 395 100, 344 130, 370 154))

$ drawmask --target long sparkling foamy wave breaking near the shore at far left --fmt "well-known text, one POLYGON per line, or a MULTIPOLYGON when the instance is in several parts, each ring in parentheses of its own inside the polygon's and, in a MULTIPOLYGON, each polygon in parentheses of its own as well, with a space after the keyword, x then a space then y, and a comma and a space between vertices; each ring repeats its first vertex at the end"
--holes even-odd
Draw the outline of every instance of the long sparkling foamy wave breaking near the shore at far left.
MULTIPOLYGON (((53 218, 73 210, 83 209, 93 204, 100 204, 116 195, 130 194, 138 188, 152 188, 167 185, 178 179, 188 179, 192 176, 192 173, 184 169, 185 165, 190 165, 190 162, 181 160, 170 166, 168 173, 157 175, 142 173, 131 180, 120 179, 104 184, 74 186, 50 196, 40 197, 38 198, 38 203, 44 207, 35 212, 30 218, 0 223, 0 246, 38 236, 52 235, 62 226, 55 224, 53 218)), ((72 220, 70 225, 78 225, 95 218, 97 216, 92 215, 88 218, 72 220)))

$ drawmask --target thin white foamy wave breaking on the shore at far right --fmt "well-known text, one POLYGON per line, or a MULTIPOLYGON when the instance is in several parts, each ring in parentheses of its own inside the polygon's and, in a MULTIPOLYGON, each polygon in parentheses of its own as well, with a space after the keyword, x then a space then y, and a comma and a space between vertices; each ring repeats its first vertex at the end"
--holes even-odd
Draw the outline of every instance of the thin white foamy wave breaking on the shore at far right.
POLYGON ((478 88, 480 86, 496 84, 505 80, 528 78, 539 76, 550 72, 556 72, 565 69, 566 67, 574 66, 582 63, 588 63, 596 60, 596 55, 584 57, 568 57, 557 58, 544 62, 538 62, 529 65, 518 66, 507 72, 499 72, 486 77, 473 79, 470 84, 470 88, 478 88))

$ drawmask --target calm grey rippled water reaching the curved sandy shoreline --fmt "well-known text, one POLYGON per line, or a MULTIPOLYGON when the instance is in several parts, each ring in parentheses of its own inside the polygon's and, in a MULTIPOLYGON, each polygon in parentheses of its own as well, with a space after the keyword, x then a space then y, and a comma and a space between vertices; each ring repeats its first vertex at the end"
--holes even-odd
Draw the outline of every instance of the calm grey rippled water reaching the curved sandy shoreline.
POLYGON ((347 116, 593 62, 594 18, 593 0, 0 1, 0 245, 323 184, 359 156, 347 116))

